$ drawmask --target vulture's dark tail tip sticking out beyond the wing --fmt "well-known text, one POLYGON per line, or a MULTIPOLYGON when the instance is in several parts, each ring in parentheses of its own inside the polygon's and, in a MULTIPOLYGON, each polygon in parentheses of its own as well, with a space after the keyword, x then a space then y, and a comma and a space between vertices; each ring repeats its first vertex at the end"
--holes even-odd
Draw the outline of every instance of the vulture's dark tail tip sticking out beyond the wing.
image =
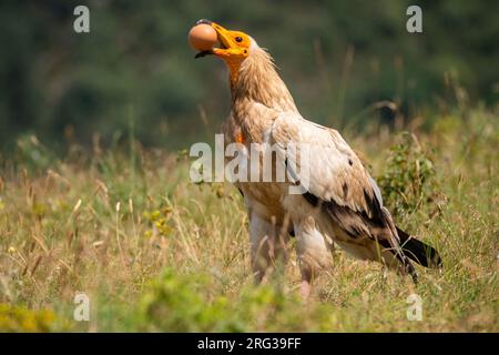
POLYGON ((425 267, 441 267, 439 253, 430 245, 410 236, 397 226, 404 255, 425 267))

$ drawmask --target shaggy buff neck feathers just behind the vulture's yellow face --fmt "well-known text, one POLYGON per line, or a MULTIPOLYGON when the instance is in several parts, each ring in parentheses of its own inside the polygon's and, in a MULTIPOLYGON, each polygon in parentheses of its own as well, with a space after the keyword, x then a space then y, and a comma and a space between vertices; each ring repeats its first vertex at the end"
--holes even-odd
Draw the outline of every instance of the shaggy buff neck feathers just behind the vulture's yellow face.
POLYGON ((298 112, 278 75, 272 57, 255 45, 238 70, 231 70, 233 112, 244 114, 247 104, 259 103, 281 112, 298 112), (238 112, 243 110, 243 112, 238 112))

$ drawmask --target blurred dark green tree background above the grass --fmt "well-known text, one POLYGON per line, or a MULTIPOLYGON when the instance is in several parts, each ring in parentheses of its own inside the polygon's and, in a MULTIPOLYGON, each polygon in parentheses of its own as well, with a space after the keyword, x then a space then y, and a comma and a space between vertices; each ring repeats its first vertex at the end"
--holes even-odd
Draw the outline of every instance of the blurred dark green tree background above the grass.
POLYGON ((227 72, 194 60, 186 36, 200 18, 267 48, 302 113, 327 125, 395 124, 452 100, 497 110, 497 0, 2 0, 1 148, 27 133, 89 145, 133 130, 179 149, 216 132, 227 72), (90 33, 73 31, 78 4, 90 8, 90 33), (410 4, 422 8, 424 33, 406 31, 410 4))

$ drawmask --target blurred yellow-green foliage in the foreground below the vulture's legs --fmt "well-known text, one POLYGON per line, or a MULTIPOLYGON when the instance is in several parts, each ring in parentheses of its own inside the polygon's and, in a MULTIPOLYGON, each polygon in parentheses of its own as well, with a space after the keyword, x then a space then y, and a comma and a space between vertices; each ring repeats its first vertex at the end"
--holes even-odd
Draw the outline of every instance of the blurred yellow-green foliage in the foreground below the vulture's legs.
POLYGON ((141 300, 140 324, 144 331, 251 332, 254 329, 305 331, 303 317, 313 316, 320 328, 330 322, 328 307, 307 308, 296 294, 277 285, 246 286, 240 294, 216 294, 216 280, 205 273, 179 274, 166 268, 141 300))

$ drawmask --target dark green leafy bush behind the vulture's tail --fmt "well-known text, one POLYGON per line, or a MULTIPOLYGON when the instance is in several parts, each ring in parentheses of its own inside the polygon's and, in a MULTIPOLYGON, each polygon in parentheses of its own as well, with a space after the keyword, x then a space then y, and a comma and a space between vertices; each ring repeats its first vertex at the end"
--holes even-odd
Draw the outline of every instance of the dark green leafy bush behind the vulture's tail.
POLYGON ((413 213, 421 204, 428 204, 435 193, 435 165, 429 153, 415 134, 400 134, 400 142, 393 145, 378 178, 384 203, 394 215, 413 213))

